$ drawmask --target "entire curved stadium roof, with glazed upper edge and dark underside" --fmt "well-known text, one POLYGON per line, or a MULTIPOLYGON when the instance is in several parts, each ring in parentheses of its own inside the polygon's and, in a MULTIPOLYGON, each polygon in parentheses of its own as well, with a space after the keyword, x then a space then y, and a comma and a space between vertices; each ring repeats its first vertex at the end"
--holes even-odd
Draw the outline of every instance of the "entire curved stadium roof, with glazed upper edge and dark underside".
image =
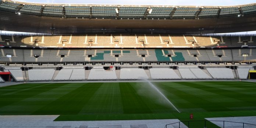
POLYGON ((87 32, 88 29, 175 29, 177 33, 196 33, 200 28, 204 28, 205 33, 241 32, 256 30, 255 16, 256 3, 239 6, 139 6, 0 2, 0 29, 21 32, 51 33, 49 28, 55 28, 58 33, 87 32))

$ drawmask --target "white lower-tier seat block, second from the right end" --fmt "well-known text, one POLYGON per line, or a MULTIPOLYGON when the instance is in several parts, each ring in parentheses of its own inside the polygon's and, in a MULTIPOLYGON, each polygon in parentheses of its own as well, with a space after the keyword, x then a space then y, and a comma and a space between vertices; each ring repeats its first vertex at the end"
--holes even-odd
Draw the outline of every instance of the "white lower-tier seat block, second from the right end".
POLYGON ((206 68, 214 79, 234 79, 230 68, 206 68))

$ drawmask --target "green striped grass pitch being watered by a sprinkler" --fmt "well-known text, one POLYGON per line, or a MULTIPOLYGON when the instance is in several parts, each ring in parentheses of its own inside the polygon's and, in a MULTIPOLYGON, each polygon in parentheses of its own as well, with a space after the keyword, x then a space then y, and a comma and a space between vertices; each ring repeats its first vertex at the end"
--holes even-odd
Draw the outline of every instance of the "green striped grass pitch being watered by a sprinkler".
POLYGON ((0 88, 0 115, 60 115, 56 121, 255 116, 252 82, 35 83, 0 88))

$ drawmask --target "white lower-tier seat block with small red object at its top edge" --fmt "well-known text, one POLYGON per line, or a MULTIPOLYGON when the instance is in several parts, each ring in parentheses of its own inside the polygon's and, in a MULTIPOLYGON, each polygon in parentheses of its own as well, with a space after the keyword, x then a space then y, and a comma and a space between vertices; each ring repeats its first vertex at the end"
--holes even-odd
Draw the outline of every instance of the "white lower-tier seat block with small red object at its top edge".
POLYGON ((115 70, 106 71, 104 69, 92 69, 88 80, 116 80, 115 70))

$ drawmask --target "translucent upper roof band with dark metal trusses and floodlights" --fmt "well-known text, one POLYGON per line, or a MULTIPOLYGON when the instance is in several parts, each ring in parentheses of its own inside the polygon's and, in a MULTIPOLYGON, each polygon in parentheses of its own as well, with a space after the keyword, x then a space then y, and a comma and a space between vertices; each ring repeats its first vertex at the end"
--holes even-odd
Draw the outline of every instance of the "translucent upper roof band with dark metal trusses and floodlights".
POLYGON ((1 0, 0 9, 63 18, 218 18, 256 13, 256 3, 239 6, 155 6, 110 4, 38 4, 1 0), (116 11, 117 9, 118 11, 116 11), (149 12, 149 11, 152 12, 149 12))

